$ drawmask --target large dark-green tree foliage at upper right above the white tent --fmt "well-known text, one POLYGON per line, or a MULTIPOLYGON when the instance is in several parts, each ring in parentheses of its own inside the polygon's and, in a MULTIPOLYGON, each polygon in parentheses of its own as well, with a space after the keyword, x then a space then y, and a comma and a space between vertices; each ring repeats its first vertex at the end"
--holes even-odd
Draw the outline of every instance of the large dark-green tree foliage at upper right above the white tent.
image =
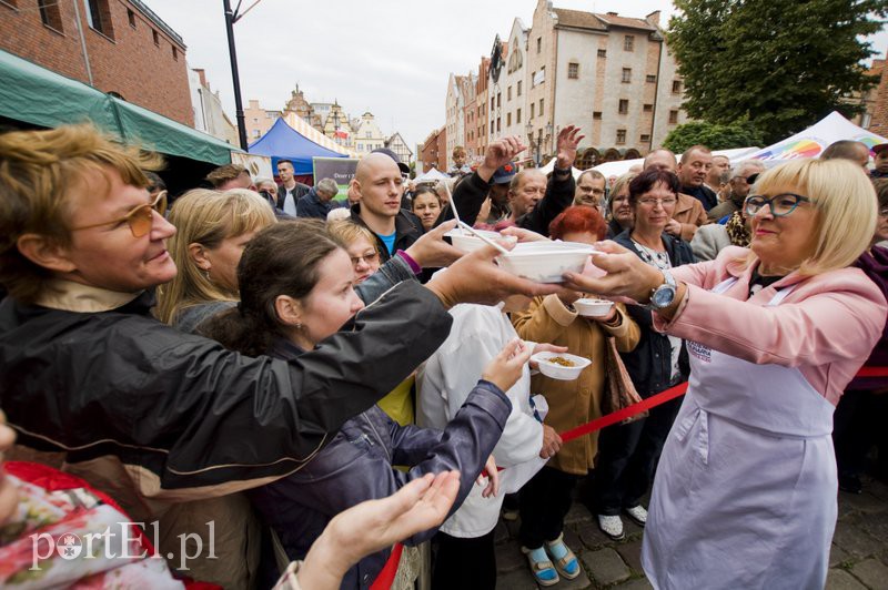
POLYGON ((685 79, 687 113, 713 123, 748 119, 768 143, 801 131, 877 80, 876 52, 888 0, 675 0, 667 42, 685 79))

